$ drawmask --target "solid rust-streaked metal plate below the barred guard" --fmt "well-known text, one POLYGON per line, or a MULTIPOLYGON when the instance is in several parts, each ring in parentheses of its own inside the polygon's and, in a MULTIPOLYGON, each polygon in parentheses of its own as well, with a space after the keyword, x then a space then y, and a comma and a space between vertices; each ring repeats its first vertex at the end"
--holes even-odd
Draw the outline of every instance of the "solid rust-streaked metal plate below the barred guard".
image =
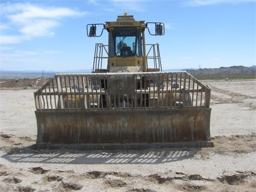
POLYGON ((124 143, 206 141, 205 126, 210 109, 205 111, 118 111, 104 113, 37 111, 37 142, 124 143), (174 112, 174 113, 173 113, 174 112), (183 117, 182 117, 183 116, 183 117), (194 121, 191 121, 194 119, 194 121), (44 124, 42 125, 42 122, 44 124), (61 124, 59 122, 62 122, 61 124))

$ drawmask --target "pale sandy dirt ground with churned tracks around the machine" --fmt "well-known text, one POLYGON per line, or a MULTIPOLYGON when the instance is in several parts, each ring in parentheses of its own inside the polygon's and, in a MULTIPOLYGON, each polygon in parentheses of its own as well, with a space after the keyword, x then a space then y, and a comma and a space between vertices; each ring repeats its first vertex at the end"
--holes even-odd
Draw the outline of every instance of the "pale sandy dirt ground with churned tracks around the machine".
POLYGON ((0 90, 0 191, 256 191, 256 81, 212 88, 212 148, 35 150, 35 89, 0 90))

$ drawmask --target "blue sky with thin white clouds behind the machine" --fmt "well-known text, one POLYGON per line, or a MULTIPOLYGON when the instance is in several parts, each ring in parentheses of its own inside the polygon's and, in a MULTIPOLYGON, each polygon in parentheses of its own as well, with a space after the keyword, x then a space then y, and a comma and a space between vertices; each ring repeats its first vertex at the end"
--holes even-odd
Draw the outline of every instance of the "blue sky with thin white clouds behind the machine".
POLYGON ((127 12, 136 20, 163 22, 159 43, 163 69, 256 65, 256 0, 1 0, 0 69, 92 69, 95 43, 107 31, 86 35, 88 23, 115 21, 127 12))

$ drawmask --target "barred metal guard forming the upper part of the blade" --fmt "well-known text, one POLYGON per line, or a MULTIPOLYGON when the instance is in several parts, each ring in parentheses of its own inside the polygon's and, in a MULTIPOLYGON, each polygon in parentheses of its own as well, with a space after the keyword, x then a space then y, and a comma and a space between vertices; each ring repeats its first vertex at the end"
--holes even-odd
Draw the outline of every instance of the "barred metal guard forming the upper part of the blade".
POLYGON ((34 93, 36 110, 209 108, 211 89, 186 71, 57 74, 34 93))

